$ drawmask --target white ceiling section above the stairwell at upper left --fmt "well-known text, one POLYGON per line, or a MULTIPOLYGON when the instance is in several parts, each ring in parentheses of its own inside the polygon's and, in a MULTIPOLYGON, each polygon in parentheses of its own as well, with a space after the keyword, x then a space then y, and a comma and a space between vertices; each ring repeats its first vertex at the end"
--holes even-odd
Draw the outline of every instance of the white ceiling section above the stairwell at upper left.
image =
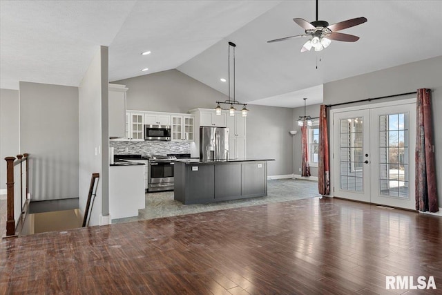
POLYGON ((0 88, 78 86, 135 1, 0 1, 0 88), (106 3, 106 4, 104 4, 106 3))

